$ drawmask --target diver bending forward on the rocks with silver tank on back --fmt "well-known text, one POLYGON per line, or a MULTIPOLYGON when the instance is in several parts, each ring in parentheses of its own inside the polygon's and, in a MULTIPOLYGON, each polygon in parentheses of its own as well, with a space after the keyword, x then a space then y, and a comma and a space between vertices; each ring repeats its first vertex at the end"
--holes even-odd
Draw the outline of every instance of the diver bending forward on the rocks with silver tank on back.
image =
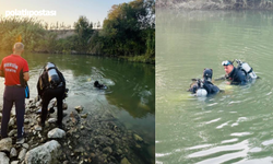
POLYGON ((62 128, 62 99, 67 97, 68 90, 66 89, 64 77, 54 63, 47 62, 47 65, 44 67, 43 73, 38 79, 37 91, 38 96, 41 98, 41 115, 39 125, 45 127, 48 104, 52 98, 56 97, 58 108, 57 125, 59 128, 62 128))

